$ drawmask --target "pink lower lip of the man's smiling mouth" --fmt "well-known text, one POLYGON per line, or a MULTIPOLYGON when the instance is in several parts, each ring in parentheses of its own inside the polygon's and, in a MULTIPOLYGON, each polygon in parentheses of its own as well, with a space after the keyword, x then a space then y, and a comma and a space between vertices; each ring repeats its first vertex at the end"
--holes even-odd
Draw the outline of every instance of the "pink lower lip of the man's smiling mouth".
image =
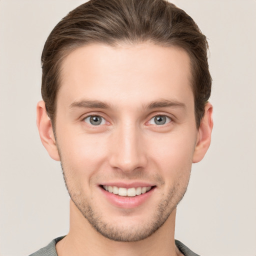
POLYGON ((143 194, 135 196, 120 196, 118 194, 110 193, 102 187, 100 187, 100 189, 111 204, 121 208, 134 208, 143 204, 150 197, 150 195, 152 195, 155 187, 151 188, 149 191, 143 194))

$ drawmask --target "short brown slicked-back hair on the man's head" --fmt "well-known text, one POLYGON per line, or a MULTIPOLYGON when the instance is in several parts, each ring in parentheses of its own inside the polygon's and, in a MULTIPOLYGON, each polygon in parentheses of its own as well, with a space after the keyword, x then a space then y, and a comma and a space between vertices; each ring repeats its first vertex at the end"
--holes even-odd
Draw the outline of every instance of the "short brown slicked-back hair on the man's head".
POLYGON ((72 49, 93 42, 116 45, 144 41, 181 47, 189 54, 199 127, 211 91, 207 40, 185 11, 165 0, 90 0, 59 21, 41 56, 41 94, 53 127, 61 61, 72 49))

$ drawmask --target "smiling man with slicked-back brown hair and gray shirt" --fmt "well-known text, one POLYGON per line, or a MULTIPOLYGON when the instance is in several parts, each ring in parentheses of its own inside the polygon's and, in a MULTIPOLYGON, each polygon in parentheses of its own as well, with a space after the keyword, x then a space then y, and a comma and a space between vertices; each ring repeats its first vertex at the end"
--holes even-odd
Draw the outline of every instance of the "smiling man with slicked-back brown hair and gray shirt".
POLYGON ((91 0, 42 52, 37 126, 60 160, 70 230, 35 255, 197 255, 174 240, 210 144, 207 42, 164 0, 91 0))

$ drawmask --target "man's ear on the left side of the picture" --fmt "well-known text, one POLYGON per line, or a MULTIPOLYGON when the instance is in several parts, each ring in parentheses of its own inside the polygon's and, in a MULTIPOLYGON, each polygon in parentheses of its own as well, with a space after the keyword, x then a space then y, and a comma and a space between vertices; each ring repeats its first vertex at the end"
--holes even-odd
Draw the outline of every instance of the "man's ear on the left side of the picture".
POLYGON ((42 144, 46 148, 50 157, 56 161, 59 161, 59 154, 53 134, 51 120, 47 115, 45 103, 43 100, 37 103, 36 115, 36 124, 42 144))

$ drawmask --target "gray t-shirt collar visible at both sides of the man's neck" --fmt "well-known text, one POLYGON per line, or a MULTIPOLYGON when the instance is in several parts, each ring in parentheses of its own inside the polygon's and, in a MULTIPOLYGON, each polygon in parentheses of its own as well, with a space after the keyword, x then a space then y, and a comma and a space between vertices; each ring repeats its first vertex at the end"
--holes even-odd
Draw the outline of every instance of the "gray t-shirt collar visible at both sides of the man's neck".
MULTIPOLYGON (((64 236, 57 237, 53 239, 47 246, 37 250, 36 252, 30 254, 29 256, 58 256, 56 252, 56 243, 61 240, 64 236)), ((192 252, 189 248, 187 248, 182 242, 175 240, 175 244, 184 254, 184 256, 199 256, 198 254, 192 252)))

